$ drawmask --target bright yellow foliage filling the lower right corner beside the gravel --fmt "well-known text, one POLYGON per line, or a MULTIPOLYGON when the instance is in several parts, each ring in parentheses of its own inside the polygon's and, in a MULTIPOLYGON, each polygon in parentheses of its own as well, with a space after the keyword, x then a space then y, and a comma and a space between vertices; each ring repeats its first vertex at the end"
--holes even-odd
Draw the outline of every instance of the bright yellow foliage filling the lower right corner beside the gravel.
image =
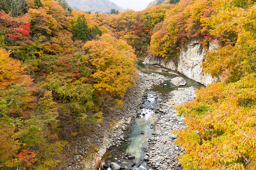
POLYGON ((210 84, 196 92, 194 101, 178 107, 187 114, 188 129, 175 131, 177 144, 187 151, 179 158, 184 169, 254 169, 255 78, 246 74, 235 83, 210 84))

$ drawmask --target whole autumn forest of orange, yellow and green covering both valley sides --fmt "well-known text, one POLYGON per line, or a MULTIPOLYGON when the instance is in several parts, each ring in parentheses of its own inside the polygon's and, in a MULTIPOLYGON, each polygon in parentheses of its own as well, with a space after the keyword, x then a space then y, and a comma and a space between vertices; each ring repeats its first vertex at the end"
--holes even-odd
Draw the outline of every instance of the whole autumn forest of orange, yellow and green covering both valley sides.
POLYGON ((89 14, 65 0, 0 0, 0 168, 57 169, 63 151, 137 81, 137 58, 177 59, 218 44, 201 64, 218 82, 177 106, 184 169, 256 169, 256 2, 164 1, 89 14), (185 49, 184 49, 185 50, 185 49))

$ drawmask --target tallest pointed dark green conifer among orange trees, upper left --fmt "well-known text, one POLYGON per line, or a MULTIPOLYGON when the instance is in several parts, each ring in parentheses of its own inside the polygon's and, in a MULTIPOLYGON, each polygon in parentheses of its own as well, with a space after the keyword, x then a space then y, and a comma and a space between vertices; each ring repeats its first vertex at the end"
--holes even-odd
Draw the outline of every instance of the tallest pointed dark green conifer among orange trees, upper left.
POLYGON ((78 16, 76 20, 75 36, 77 39, 85 42, 90 40, 89 33, 90 29, 88 28, 84 15, 78 16))

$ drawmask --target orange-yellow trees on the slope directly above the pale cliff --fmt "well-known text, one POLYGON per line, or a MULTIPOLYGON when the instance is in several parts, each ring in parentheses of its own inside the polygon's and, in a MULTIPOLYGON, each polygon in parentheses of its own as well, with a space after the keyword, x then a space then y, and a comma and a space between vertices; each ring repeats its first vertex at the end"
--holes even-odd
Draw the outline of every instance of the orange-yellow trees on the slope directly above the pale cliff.
POLYGON ((204 48, 208 48, 214 36, 209 34, 205 20, 213 13, 209 0, 181 0, 176 6, 172 5, 162 28, 152 36, 152 53, 159 57, 176 57, 181 45, 191 39, 201 39, 204 48))

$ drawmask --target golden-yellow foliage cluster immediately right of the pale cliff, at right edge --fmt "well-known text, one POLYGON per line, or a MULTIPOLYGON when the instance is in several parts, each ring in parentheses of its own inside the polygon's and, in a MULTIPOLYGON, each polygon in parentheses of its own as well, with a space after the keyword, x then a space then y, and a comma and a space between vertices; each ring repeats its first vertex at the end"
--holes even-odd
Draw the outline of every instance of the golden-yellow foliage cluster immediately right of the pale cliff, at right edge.
POLYGON ((255 69, 256 55, 251 53, 253 46, 219 47, 208 53, 207 61, 202 64, 204 71, 218 77, 224 74, 222 79, 226 83, 236 82, 245 73, 252 73, 255 69), (245 50, 247 49, 247 50, 245 50))

